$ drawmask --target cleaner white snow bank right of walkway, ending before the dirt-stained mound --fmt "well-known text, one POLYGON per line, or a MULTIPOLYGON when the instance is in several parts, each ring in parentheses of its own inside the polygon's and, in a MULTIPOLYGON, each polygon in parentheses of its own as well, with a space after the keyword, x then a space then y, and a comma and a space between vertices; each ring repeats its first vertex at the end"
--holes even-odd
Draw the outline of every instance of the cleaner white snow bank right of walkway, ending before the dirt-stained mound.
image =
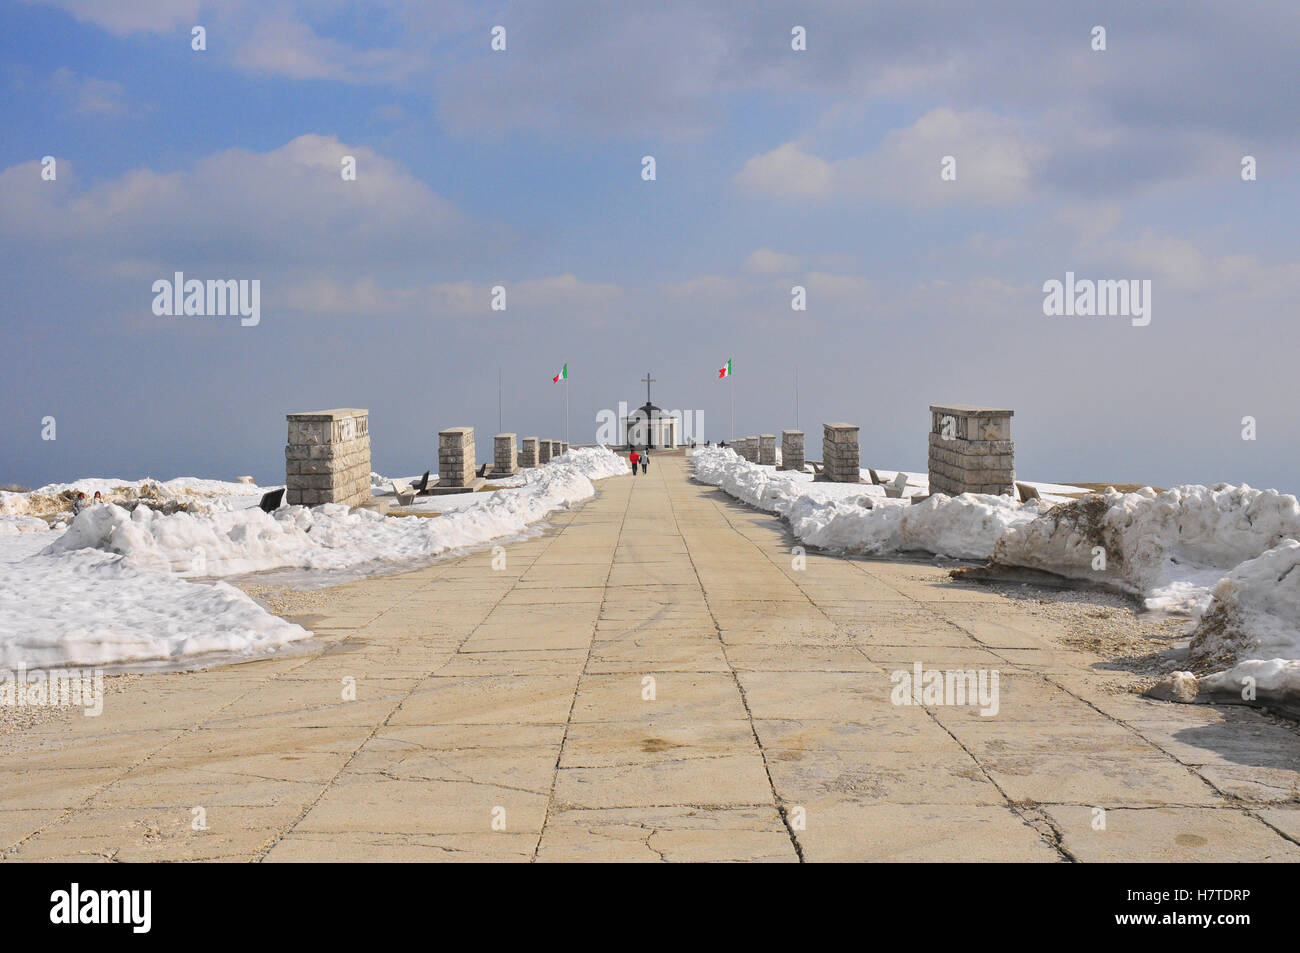
POLYGON ((784 516, 802 542, 844 553, 924 551, 979 559, 992 554, 1010 527, 1040 512, 1034 503, 970 493, 915 504, 887 499, 879 486, 814 484, 806 475, 749 463, 729 447, 697 447, 692 459, 701 482, 784 516), (822 488, 828 488, 827 495, 822 488))

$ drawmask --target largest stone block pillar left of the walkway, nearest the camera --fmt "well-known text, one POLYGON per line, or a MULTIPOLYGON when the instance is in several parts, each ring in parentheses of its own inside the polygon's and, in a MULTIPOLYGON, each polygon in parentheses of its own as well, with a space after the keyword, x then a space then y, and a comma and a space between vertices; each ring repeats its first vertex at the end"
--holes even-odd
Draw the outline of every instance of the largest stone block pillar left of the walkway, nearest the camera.
POLYGON ((370 502, 370 412, 346 408, 290 413, 285 503, 370 502))

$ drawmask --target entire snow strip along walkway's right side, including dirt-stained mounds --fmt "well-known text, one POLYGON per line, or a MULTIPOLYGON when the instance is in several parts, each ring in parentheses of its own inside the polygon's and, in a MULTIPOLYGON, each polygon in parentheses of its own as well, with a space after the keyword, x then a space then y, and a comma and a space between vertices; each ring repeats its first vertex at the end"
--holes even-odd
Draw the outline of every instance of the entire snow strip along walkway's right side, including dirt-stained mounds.
POLYGON ((1191 658, 1223 671, 1200 680, 1179 673, 1182 697, 1253 684, 1300 699, 1300 502, 1290 494, 1216 484, 1070 499, 1058 494, 1074 488, 1035 484, 1041 502, 936 494, 914 504, 884 499, 876 486, 815 484, 810 475, 759 467, 729 449, 697 449, 693 462, 702 482, 780 514, 810 545, 992 558, 1110 585, 1150 610, 1187 615, 1191 658))

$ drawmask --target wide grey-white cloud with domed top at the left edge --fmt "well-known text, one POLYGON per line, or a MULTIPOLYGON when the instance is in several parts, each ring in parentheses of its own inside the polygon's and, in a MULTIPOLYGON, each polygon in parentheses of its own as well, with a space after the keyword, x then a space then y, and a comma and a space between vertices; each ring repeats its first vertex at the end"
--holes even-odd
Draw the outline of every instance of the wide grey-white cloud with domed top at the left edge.
POLYGON ((187 170, 136 169, 84 190, 66 160, 58 169, 56 182, 42 182, 35 163, 0 173, 0 234, 57 242, 104 270, 121 260, 164 270, 426 269, 486 246, 491 231, 393 160, 333 137, 300 135, 269 152, 226 150, 187 170), (356 157, 356 181, 339 174, 344 155, 356 157))

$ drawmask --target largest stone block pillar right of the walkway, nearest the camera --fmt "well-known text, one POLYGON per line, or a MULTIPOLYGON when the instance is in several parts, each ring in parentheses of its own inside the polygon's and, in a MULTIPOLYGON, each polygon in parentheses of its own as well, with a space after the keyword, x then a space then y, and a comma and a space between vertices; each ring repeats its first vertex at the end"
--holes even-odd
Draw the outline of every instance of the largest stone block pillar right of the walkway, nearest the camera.
POLYGON ((930 491, 1015 495, 1014 411, 967 404, 930 408, 930 491))

